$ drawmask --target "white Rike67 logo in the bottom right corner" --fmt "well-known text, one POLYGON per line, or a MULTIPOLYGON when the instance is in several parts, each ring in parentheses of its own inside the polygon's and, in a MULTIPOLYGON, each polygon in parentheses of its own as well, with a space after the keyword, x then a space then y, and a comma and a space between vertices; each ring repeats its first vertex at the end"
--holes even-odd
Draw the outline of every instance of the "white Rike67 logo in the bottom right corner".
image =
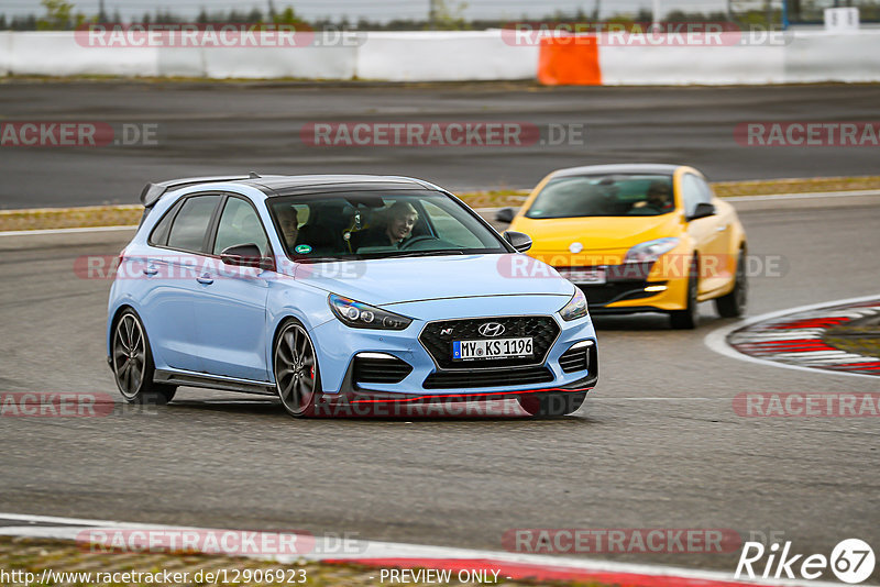
POLYGON ((866 580, 873 573, 873 551, 864 540, 840 541, 832 551, 831 557, 824 554, 795 554, 791 544, 791 541, 785 542, 780 552, 777 542, 769 549, 760 542, 746 542, 734 578, 745 575, 750 579, 794 579, 798 576, 817 579, 823 575, 827 578, 827 571, 831 569, 838 580, 856 584, 866 580))

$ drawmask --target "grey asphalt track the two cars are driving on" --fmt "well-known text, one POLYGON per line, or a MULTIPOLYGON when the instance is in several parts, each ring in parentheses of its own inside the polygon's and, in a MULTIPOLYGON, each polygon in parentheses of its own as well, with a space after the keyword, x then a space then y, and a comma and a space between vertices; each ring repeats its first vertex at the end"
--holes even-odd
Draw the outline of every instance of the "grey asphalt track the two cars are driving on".
MULTIPOLYGON (((752 279, 752 315, 877 292, 878 198, 737 207, 751 252, 788 267, 752 279)), ((105 363, 110 284, 73 267, 129 236, 0 236, 2 391, 121 400, 105 363)), ((2 418, 0 511, 488 550, 517 528, 733 529, 799 553, 853 536, 877 550, 877 419, 743 418, 732 399, 878 381, 722 356, 703 339, 730 321, 703 314, 695 332, 597 319, 600 385, 560 420, 296 421, 271 400, 195 389, 156 411, 2 418)), ((738 556, 583 555, 727 572, 738 556)))

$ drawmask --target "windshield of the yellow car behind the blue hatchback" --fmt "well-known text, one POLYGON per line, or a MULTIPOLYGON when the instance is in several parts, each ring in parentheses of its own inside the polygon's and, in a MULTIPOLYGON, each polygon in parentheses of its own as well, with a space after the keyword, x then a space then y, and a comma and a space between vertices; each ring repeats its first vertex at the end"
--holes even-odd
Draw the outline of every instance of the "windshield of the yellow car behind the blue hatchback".
POLYGON ((590 175, 550 180, 526 218, 653 217, 674 210, 668 175, 590 175))

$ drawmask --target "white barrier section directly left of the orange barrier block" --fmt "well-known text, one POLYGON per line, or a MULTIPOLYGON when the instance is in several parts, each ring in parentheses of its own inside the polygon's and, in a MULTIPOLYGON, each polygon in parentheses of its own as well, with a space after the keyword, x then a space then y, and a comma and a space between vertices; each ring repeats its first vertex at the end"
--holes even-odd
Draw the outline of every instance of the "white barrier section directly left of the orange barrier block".
POLYGON ((501 31, 367 33, 358 78, 388 81, 535 79, 537 46, 512 46, 501 31))

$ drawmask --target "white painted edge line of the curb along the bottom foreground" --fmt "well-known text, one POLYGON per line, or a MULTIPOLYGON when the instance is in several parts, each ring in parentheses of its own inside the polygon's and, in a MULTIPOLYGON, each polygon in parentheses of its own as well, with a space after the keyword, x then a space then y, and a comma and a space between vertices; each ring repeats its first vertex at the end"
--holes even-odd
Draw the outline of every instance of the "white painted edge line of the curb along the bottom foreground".
MULTIPOLYGON (((1 527, 0 535, 13 535, 24 538, 43 538, 43 539, 57 539, 57 540, 77 540, 77 536, 84 531, 84 528, 106 528, 116 530, 144 530, 152 529, 156 531, 168 530, 220 530, 220 529, 198 529, 193 527, 175 527, 163 524, 145 524, 145 523, 129 523, 117 522, 108 520, 88 520, 80 518, 62 518, 54 516, 31 516, 22 513, 0 513, 0 521, 10 520, 24 523, 56 523, 63 524, 57 527, 46 525, 16 525, 16 527, 1 527)), ((222 530, 221 530, 222 531, 222 530)), ((267 532, 270 533, 270 532, 267 532)), ((718 571, 702 571, 692 568, 673 567, 666 565, 649 565, 649 564, 632 564, 632 563, 614 563, 601 560, 590 558, 575 558, 566 556, 549 556, 541 554, 524 554, 514 552, 501 551, 479 551, 471 549, 455 549, 450 546, 428 546, 421 544, 406 544, 395 542, 376 542, 376 541, 349 541, 346 550, 351 552, 337 553, 339 550, 339 539, 329 539, 332 542, 321 544, 321 536, 316 538, 316 547, 314 553, 305 553, 302 555, 250 555, 244 554, 249 558, 261 560, 275 560, 279 563, 293 563, 299 558, 308 561, 328 560, 354 560, 364 561, 370 558, 376 560, 474 560, 474 561, 496 561, 499 563, 518 563, 526 565, 546 565, 553 568, 569 568, 576 571, 593 571, 593 572, 608 572, 620 574, 635 574, 635 575, 653 575, 653 576, 670 576, 690 579, 703 579, 710 582, 729 582, 737 584, 755 584, 755 585, 785 585, 798 587, 839 587, 837 583, 823 583, 823 582, 799 582, 799 580, 782 580, 772 579, 771 583, 763 583, 760 580, 734 579, 733 573, 724 573, 718 571), (354 552, 356 551, 356 552, 354 552), (317 554, 322 553, 322 554, 317 554)), ((323 539, 328 541, 328 539, 323 539)), ((241 556, 241 555, 240 555, 241 556)), ((419 564, 424 566, 424 564, 419 564)))

